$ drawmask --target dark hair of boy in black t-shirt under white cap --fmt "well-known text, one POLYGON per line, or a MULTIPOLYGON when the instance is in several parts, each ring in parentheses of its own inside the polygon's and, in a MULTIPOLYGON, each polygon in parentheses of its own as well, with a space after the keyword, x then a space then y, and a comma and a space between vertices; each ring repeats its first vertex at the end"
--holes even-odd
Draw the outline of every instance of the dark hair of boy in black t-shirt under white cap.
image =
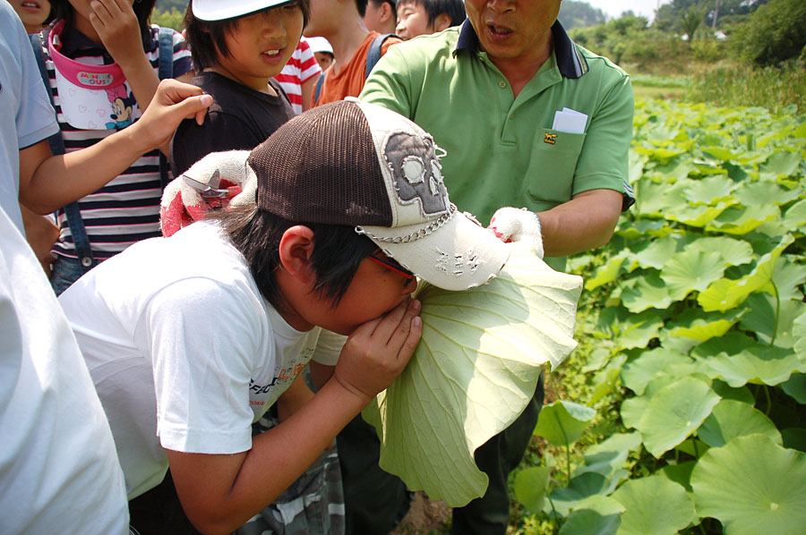
POLYGON ((218 64, 219 62, 216 58, 219 54, 229 55, 227 33, 235 30, 238 21, 243 17, 249 17, 255 13, 262 13, 292 3, 299 4, 303 12, 304 29, 308 25, 308 19, 311 16, 311 0, 289 0, 283 4, 271 5, 260 11, 246 13, 241 17, 224 19, 223 21, 201 21, 201 19, 197 19, 193 16, 193 2, 188 2, 187 11, 184 13, 184 28, 187 34, 187 44, 191 49, 191 55, 193 55, 193 68, 196 72, 200 72, 202 69, 218 64))

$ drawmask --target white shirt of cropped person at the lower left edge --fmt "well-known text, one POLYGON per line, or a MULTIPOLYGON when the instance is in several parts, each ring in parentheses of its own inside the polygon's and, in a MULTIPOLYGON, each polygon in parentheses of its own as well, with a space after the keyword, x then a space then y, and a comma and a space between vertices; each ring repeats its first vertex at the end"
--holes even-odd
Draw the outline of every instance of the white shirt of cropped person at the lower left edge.
POLYGON ((0 208, 0 533, 128 533, 107 418, 39 261, 0 208))

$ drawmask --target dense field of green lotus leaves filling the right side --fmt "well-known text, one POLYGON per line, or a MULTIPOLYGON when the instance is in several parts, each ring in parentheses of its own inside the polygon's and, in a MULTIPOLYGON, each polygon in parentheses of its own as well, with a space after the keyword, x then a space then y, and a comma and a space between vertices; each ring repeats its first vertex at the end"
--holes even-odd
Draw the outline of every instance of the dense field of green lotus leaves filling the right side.
POLYGON ((638 203, 570 260, 579 349, 547 384, 596 416, 545 446, 540 533, 802 531, 804 147, 803 115, 637 101, 638 203))

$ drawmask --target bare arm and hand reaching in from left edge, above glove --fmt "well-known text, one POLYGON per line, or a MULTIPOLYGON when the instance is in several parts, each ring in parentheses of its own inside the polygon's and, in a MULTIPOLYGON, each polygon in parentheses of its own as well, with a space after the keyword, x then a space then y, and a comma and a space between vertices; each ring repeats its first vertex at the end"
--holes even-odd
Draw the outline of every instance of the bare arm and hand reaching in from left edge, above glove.
POLYGON ((53 156, 47 140, 21 149, 20 202, 45 215, 98 191, 142 154, 170 140, 184 118, 195 116, 201 124, 211 102, 196 86, 166 80, 139 121, 86 149, 53 156))

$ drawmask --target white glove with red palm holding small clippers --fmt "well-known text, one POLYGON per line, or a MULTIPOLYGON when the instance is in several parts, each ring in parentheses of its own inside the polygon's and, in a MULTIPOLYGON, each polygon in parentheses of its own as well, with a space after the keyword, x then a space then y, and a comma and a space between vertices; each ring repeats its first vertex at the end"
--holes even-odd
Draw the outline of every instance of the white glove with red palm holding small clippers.
POLYGON ((229 200, 241 192, 249 152, 210 153, 168 183, 159 203, 162 235, 170 236, 193 221, 204 219, 210 208, 227 208, 229 200))

